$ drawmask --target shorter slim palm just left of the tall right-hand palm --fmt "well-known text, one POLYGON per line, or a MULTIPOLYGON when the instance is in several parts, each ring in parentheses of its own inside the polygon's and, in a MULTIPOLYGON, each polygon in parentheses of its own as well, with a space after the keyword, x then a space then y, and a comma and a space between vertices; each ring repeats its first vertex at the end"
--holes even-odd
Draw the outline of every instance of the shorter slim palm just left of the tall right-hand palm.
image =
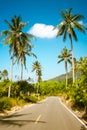
POLYGON ((57 58, 59 58, 60 60, 58 61, 58 63, 64 61, 65 64, 65 71, 66 71, 66 88, 67 88, 67 73, 68 73, 68 69, 67 69, 67 63, 71 64, 71 51, 68 51, 66 47, 63 48, 63 50, 61 51, 61 55, 58 55, 57 58))

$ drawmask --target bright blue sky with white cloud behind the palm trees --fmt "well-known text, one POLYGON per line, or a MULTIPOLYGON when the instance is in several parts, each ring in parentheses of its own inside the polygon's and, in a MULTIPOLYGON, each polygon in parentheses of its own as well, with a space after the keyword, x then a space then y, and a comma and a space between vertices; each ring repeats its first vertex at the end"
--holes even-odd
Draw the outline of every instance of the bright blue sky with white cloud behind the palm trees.
MULTIPOLYGON (((25 27, 25 32, 32 32, 37 40, 34 44, 33 52, 37 55, 38 61, 42 66, 42 79, 47 80, 65 73, 64 64, 57 64, 57 55, 61 53, 63 47, 70 49, 69 40, 62 41, 56 38, 56 31, 52 28, 60 23, 61 15, 59 10, 73 8, 72 13, 80 13, 85 16, 83 24, 87 25, 87 0, 0 0, 0 32, 8 29, 4 20, 10 21, 14 15, 20 15, 24 22, 29 21, 25 27)), ((74 55, 77 59, 87 56, 87 34, 77 32, 78 42, 73 41, 74 55)), ((27 57, 27 71, 24 71, 24 78, 30 76, 36 80, 35 73, 31 73, 32 63, 35 58, 27 57)), ((0 44, 0 70, 10 71, 10 55, 8 47, 0 44)), ((14 76, 19 75, 17 65, 14 66, 14 76)))

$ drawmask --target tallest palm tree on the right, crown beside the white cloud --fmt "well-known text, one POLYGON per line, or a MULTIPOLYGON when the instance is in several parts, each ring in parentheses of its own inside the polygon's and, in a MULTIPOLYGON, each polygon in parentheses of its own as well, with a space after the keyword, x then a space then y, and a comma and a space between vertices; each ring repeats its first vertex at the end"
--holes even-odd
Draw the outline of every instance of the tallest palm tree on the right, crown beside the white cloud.
MULTIPOLYGON (((75 81, 74 78, 74 54, 73 54, 73 38, 75 41, 78 41, 75 29, 79 30, 82 33, 85 33, 85 26, 81 24, 79 21, 84 18, 83 15, 75 14, 73 15, 71 13, 72 9, 66 10, 64 13, 61 10, 62 15, 62 22, 57 25, 55 28, 58 29, 57 37, 63 35, 63 40, 66 40, 66 37, 68 35, 71 45, 71 51, 72 51, 72 68, 73 68, 73 82, 75 81)), ((54 29, 55 29, 54 28, 54 29)))

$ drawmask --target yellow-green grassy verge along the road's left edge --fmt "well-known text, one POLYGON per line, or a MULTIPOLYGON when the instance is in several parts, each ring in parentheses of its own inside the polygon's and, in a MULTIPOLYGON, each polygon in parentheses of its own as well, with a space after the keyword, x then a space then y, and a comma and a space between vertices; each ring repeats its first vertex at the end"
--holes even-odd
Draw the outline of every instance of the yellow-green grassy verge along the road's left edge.
POLYGON ((25 105, 37 103, 45 99, 44 96, 40 95, 30 95, 23 96, 22 98, 0 98, 0 116, 15 112, 19 109, 22 109, 25 105))

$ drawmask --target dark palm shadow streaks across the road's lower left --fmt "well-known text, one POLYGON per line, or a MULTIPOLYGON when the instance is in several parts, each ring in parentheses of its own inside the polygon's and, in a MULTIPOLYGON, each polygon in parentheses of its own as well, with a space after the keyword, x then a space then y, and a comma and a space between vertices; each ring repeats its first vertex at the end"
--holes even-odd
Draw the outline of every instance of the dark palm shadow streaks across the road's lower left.
MULTIPOLYGON (((31 114, 31 113, 29 113, 31 114)), ((18 117, 28 115, 28 114, 13 114, 6 117, 3 117, 0 119, 0 125, 6 125, 6 126, 19 126, 22 127, 24 125, 27 125, 28 123, 35 123, 36 120, 28 120, 28 119, 18 119, 18 117), (15 118, 17 117, 17 118, 15 118)), ((38 123, 46 123, 45 121, 38 121, 38 123)))

